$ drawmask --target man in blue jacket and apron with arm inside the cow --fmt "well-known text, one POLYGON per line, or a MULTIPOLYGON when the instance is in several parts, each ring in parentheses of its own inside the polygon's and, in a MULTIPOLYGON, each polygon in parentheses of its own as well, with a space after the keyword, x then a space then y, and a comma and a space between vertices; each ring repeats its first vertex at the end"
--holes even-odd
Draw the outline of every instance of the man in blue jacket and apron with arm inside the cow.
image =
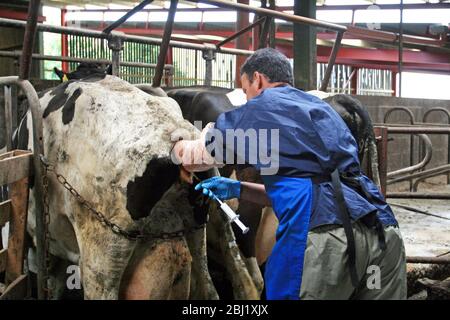
POLYGON ((221 114, 199 140, 177 142, 174 155, 188 171, 218 166, 222 159, 244 160, 261 171, 264 185, 214 177, 196 188, 222 200, 242 198, 273 207, 279 226, 265 270, 267 298, 406 298, 398 223, 362 174, 356 141, 341 117, 319 98, 292 87, 290 63, 276 50, 250 56, 241 81, 247 103, 221 114), (276 144, 256 136, 258 146, 277 153, 277 172, 264 174, 266 164, 259 158, 251 163, 254 150, 239 148, 246 142, 227 135, 231 129, 276 129, 276 144))

